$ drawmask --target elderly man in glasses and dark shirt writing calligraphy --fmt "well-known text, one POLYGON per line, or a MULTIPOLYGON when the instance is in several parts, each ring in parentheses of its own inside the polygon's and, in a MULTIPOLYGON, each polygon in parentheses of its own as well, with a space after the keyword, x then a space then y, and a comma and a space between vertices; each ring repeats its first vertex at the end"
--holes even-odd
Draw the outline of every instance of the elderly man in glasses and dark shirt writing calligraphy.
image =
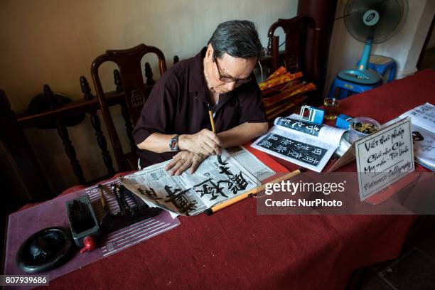
POLYGON ((254 23, 220 23, 208 46, 156 83, 134 128, 141 167, 173 159, 172 175, 195 172, 208 156, 264 134, 261 92, 251 80, 262 52, 254 23), (208 108, 213 108, 216 134, 208 108))

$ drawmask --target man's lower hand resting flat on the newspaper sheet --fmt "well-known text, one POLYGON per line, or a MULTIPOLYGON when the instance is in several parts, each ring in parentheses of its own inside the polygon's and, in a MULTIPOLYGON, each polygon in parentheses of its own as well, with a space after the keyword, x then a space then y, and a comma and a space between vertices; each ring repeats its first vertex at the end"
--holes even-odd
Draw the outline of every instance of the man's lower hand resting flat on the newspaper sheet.
POLYGON ((206 159, 203 154, 196 154, 189 151, 180 151, 173 156, 172 161, 166 165, 165 170, 171 170, 171 176, 180 176, 181 173, 190 168, 190 174, 195 173, 196 168, 206 159))

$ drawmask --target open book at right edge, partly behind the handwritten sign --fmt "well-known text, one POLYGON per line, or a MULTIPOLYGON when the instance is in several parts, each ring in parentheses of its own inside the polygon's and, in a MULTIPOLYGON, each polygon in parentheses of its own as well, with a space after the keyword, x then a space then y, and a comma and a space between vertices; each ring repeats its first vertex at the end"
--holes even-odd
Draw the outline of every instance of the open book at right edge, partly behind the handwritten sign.
POLYGON ((405 112, 400 119, 411 117, 415 160, 435 171, 435 106, 421 104, 405 112))

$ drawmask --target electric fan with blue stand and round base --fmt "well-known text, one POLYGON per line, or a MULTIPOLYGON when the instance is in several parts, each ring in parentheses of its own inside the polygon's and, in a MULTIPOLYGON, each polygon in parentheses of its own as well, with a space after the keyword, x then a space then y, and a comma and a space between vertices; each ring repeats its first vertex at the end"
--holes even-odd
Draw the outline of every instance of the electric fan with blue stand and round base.
POLYGON ((350 0, 343 15, 346 29, 357 41, 365 43, 357 68, 341 70, 342 80, 375 85, 382 77, 367 68, 372 44, 382 43, 402 29, 408 14, 407 0, 350 0))

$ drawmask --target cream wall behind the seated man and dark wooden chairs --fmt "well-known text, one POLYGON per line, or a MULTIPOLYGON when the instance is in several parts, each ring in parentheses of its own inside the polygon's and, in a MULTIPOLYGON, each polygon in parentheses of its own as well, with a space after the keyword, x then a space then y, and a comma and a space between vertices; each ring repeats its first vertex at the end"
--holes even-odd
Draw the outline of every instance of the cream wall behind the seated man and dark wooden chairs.
MULTIPOLYGON (((154 45, 163 51, 169 67, 173 55, 181 59, 195 55, 218 23, 231 19, 254 21, 267 46, 269 26, 278 18, 295 16, 296 10, 297 0, 2 0, 0 87, 14 110, 25 109, 45 83, 73 100, 81 99, 80 75, 87 77, 95 93, 90 64, 107 49, 154 45)), ((114 90, 113 68, 102 68, 105 90, 114 90)), ((158 77, 158 70, 154 75, 158 77)), ((119 109, 114 110, 119 132, 124 132, 119 109)), ((87 117, 70 129, 88 178, 105 171, 91 128, 87 117)), ((77 183, 55 130, 31 129, 26 134, 55 190, 77 183), (59 173, 60 178, 51 178, 59 173)), ((127 137, 122 139, 124 148, 129 148, 127 137)))

